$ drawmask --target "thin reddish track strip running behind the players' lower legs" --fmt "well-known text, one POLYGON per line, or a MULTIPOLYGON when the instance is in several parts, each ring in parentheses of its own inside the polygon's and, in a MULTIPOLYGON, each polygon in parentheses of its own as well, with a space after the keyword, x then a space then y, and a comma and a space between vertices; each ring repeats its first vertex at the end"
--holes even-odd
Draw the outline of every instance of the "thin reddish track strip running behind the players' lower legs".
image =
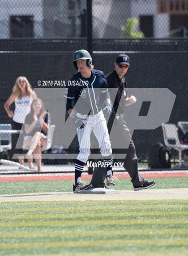
MULTIPOLYGON (((130 178, 128 173, 115 174, 118 179, 130 178)), ((188 173, 185 172, 166 172, 166 173, 143 173, 141 174, 144 178, 168 178, 168 177, 188 177, 188 173)), ((92 175, 82 175, 82 180, 90 180, 92 175)), ((42 180, 74 180, 74 175, 48 175, 48 176, 11 176, 11 177, 0 177, 0 182, 13 182, 13 181, 42 181, 42 180)))

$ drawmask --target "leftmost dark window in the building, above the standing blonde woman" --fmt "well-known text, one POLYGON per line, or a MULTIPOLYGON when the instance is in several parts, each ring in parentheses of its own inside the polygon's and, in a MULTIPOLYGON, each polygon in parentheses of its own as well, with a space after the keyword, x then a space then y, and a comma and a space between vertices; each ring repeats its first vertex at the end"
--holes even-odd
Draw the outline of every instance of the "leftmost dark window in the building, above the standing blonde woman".
POLYGON ((11 37, 33 37, 33 16, 10 16, 11 37))

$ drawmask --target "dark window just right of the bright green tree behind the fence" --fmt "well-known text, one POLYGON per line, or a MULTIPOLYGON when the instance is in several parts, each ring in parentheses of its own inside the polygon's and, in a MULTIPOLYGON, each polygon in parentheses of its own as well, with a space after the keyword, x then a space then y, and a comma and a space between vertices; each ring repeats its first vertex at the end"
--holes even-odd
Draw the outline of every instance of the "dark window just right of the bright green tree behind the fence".
POLYGON ((154 36, 153 16, 140 16, 140 30, 145 37, 154 36))

